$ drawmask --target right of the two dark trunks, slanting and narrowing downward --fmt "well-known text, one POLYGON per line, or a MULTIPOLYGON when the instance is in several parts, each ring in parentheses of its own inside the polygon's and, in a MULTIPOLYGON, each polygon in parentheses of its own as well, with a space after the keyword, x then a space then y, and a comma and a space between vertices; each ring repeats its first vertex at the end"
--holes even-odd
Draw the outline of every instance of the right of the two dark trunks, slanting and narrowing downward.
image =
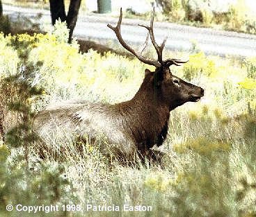
POLYGON ((74 26, 77 24, 77 16, 79 13, 79 8, 81 5, 81 0, 70 0, 70 8, 68 8, 67 13, 67 28, 70 29, 68 43, 72 42, 72 35, 74 31, 74 26))

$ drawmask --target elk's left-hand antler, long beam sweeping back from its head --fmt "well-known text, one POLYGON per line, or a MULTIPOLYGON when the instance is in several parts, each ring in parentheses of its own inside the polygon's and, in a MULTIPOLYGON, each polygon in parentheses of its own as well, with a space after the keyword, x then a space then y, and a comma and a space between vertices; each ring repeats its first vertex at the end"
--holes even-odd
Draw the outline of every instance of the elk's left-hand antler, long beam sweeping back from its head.
POLYGON ((154 60, 149 60, 144 58, 141 54, 137 53, 136 51, 134 51, 134 49, 131 48, 131 46, 129 46, 123 39, 122 39, 122 35, 121 35, 121 31, 120 31, 120 26, 121 26, 121 22, 122 22, 122 8, 120 8, 120 17, 118 19, 118 24, 117 26, 113 27, 110 24, 108 24, 107 26, 109 28, 111 28, 116 37, 118 38, 118 41, 120 42, 120 44, 127 49, 127 51, 131 52, 132 54, 134 54, 136 56, 136 58, 138 58, 138 60, 141 60, 141 62, 144 62, 145 64, 150 64, 153 65, 154 67, 161 67, 161 64, 157 61, 154 60))

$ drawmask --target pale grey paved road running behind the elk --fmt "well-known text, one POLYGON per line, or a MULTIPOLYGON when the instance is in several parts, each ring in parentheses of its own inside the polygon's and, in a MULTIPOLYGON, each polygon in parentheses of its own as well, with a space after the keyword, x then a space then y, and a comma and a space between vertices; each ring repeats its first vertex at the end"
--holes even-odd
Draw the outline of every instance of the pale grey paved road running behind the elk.
MULTIPOLYGON (((3 5, 3 12, 13 19, 20 13, 22 16, 32 17, 39 12, 42 14, 40 22, 50 25, 48 10, 35 10, 32 8, 17 8, 3 5)), ((102 43, 116 42, 115 34, 106 24, 116 24, 118 18, 109 15, 80 15, 74 35, 83 39, 97 40, 102 43)), ((137 26, 138 23, 148 22, 136 19, 123 19, 122 35, 130 44, 143 44, 147 32, 137 26)), ((196 28, 170 23, 154 23, 154 34, 157 42, 161 43, 168 36, 166 49, 189 51, 193 41, 198 43, 202 51, 208 54, 256 56, 256 35, 215 31, 210 28, 196 28)))

